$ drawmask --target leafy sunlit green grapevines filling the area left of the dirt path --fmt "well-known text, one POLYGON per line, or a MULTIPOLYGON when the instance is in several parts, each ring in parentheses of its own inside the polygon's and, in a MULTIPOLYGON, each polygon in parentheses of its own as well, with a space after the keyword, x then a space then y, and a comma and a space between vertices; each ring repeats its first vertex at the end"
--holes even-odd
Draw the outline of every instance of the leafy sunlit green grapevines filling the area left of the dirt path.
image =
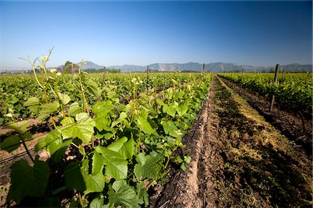
MULTIPOLYGON (((49 178, 51 166, 51 171, 58 168, 60 183, 53 189, 66 187, 67 193, 78 194, 81 207, 147 207, 147 191, 165 181, 168 162, 182 168, 190 162, 190 157, 172 155, 182 147, 182 137, 207 97, 211 74, 151 73, 152 89, 147 90, 145 74, 107 74, 104 80, 102 75, 82 71, 82 62, 76 75, 57 76, 56 70, 45 69, 47 58, 42 60, 40 70, 47 72, 47 77, 36 77, 33 82, 40 85, 42 94, 28 94, 22 107, 54 128, 36 146, 36 150, 45 148, 51 158, 47 162, 35 159, 33 167, 23 161, 13 164, 15 185, 8 200, 19 203, 33 196, 43 204, 56 205, 54 199, 63 193, 51 191, 55 185, 54 177, 49 178), (72 153, 74 159, 70 159, 72 153), (17 175, 22 171, 26 177, 17 175)), ((70 73, 72 63, 67 62, 64 70, 70 73)), ((10 107, 3 112, 8 114, 10 107)), ((11 124, 19 135, 4 139, 1 149, 12 151, 29 138, 22 124, 11 124)))

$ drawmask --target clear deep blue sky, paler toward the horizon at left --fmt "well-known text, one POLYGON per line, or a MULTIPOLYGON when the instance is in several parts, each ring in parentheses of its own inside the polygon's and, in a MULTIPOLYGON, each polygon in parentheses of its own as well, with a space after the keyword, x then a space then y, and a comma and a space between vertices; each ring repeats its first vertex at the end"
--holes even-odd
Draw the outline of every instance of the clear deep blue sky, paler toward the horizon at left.
POLYGON ((0 69, 45 55, 99 65, 312 63, 312 1, 2 1, 0 69))

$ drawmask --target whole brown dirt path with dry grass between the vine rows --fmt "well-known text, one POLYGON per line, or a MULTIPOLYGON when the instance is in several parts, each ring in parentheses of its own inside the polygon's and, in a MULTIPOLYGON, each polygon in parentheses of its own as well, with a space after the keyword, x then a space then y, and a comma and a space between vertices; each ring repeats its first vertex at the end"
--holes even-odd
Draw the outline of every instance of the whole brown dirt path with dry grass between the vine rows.
POLYGON ((217 77, 184 142, 190 168, 150 207, 311 207, 310 157, 217 77))

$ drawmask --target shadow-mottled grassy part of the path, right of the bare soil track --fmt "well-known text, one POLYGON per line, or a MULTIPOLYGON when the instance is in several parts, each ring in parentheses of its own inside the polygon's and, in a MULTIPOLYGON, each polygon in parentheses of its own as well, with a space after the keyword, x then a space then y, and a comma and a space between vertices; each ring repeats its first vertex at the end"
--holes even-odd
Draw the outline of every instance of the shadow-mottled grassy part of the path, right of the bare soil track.
POLYGON ((257 141, 271 137, 262 135, 267 127, 248 119, 219 80, 214 101, 224 145, 227 191, 222 198, 227 206, 312 207, 312 173, 303 173, 303 165, 309 164, 289 151, 292 146, 282 151, 257 141))

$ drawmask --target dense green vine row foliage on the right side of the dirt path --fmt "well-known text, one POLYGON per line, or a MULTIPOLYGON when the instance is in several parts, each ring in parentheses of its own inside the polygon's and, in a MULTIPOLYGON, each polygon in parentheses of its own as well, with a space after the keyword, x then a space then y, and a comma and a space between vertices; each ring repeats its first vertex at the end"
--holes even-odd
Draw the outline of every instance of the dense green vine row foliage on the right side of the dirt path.
POLYGON ((223 73, 220 76, 266 98, 274 94, 275 102, 281 107, 312 112, 311 73, 280 73, 278 83, 273 82, 273 73, 223 73))

